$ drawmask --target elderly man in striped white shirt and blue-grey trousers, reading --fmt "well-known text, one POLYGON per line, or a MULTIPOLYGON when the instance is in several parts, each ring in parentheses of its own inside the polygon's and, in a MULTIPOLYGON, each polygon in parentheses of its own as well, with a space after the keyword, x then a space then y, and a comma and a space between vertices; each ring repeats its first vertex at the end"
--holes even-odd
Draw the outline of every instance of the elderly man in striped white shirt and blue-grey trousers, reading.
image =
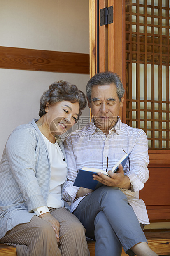
POLYGON ((68 180, 64 198, 70 201, 72 213, 86 228, 86 236, 96 240, 96 256, 121 256, 122 246, 129 255, 154 256, 142 232, 149 224, 139 190, 149 178, 146 134, 121 122, 124 88, 117 74, 98 73, 86 87, 88 106, 93 119, 66 137, 68 180), (93 167, 108 170, 130 153, 124 169, 93 175, 103 185, 95 191, 74 187, 79 169, 93 167))

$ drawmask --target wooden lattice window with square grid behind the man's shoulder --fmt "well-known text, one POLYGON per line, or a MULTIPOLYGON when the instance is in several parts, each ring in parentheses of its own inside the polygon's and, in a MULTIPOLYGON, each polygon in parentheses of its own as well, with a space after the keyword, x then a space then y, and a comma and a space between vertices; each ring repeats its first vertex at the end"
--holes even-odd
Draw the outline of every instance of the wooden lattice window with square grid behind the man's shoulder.
POLYGON ((126 0, 126 123, 170 149, 170 1, 126 0))

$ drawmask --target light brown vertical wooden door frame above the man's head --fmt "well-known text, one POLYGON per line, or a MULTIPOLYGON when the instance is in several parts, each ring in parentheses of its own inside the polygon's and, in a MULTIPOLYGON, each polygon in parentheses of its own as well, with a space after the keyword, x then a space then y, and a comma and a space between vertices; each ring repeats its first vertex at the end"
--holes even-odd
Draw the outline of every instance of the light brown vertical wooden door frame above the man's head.
MULTIPOLYGON (((124 0, 89 0, 90 7, 90 78, 99 72, 112 71, 117 73, 125 88, 125 1, 124 0), (119 9, 119 12, 115 12, 113 9, 114 22, 109 25, 97 26, 97 6, 99 9, 106 6, 114 6, 119 9), (97 31, 104 35, 99 37, 99 46, 97 46, 97 31), (117 38, 114 38, 116 33, 117 38), (122 40, 123 38, 123 40, 122 40), (114 55, 112 52, 112 45, 114 44, 114 55), (108 45, 108 46, 107 46, 108 45), (99 60, 97 59, 97 56, 99 60), (108 56, 111 56, 108 59, 108 56), (116 62, 116 59, 120 59, 120 62, 116 62), (109 60, 109 61, 108 61, 109 60), (97 63, 99 61, 99 64, 97 63), (99 69, 97 71, 97 66, 99 69)), ((100 19, 100 17, 99 17, 100 19)), ((121 121, 125 123, 125 103, 120 109, 119 116, 121 121)))

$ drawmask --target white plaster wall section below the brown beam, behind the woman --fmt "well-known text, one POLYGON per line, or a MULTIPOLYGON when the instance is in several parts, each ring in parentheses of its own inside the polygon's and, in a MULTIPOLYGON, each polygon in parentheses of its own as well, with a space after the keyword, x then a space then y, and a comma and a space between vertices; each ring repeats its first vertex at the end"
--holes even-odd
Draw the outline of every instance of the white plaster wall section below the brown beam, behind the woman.
MULTIPOLYGON (((81 74, 3 69, 0 72, 0 158, 12 130, 33 118, 39 119, 40 97, 51 83, 66 80, 82 87, 85 92, 88 79, 87 75, 81 74), (4 85, 2 81, 5 81, 4 85)), ((88 107, 82 111, 82 118, 86 116, 89 116, 88 107)))

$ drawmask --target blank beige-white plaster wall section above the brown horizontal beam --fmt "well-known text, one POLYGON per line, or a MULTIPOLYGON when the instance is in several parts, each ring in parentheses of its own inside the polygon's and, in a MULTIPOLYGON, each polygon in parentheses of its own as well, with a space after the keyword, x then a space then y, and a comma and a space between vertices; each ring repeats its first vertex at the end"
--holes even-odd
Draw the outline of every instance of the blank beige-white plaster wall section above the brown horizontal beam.
POLYGON ((0 0, 0 45, 89 53, 88 0, 0 0))

